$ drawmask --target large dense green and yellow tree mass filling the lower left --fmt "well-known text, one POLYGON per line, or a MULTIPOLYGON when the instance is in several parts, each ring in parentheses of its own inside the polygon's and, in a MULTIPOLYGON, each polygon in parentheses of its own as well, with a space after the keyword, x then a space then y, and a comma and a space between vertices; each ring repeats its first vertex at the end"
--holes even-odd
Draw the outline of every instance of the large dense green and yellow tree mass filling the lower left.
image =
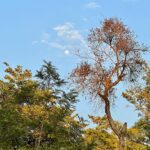
MULTIPOLYGON (((6 64, 0 80, 0 149, 82 149, 77 93, 41 88, 29 70, 6 64)), ((46 83, 47 85, 47 83, 46 83)))

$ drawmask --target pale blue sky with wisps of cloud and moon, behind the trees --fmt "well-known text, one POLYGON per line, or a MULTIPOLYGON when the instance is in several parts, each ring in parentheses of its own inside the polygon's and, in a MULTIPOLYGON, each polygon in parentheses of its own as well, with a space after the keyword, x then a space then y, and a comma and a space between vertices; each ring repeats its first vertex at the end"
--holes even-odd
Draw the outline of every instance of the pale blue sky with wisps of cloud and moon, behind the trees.
MULTIPOLYGON (((67 78, 79 63, 76 50, 86 50, 90 29, 99 27, 104 18, 121 19, 139 42, 149 46, 149 14, 149 0, 0 0, 1 77, 4 61, 13 67, 22 65, 34 74, 47 60, 67 78)), ((147 61, 149 57, 144 56, 147 61)), ((85 119, 88 114, 103 113, 102 107, 95 109, 84 97, 79 99, 77 112, 85 119)), ((128 126, 138 119, 134 107, 121 97, 112 107, 112 114, 128 126)))

